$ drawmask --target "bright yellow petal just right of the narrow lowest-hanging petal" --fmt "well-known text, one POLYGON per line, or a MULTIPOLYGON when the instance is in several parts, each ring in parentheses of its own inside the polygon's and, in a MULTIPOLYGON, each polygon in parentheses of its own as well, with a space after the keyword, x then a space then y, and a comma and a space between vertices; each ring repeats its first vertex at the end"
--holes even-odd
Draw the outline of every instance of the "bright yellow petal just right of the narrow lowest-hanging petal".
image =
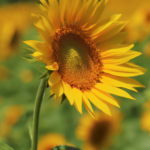
POLYGON ((92 92, 85 91, 84 94, 97 108, 102 110, 107 115, 111 116, 108 106, 104 102, 102 102, 98 97, 96 97, 92 92))

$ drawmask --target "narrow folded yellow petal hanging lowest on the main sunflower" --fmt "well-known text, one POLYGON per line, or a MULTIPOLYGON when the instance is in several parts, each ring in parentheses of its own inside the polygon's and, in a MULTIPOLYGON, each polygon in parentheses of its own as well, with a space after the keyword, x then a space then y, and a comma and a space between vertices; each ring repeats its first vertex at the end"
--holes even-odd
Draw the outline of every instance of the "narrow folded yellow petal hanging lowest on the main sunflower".
POLYGON ((93 108, 89 102, 89 100, 86 98, 86 96, 84 94, 82 94, 82 98, 83 98, 83 104, 86 108, 86 110, 89 112, 89 114, 94 118, 96 119, 96 116, 95 116, 95 113, 93 111, 93 108))

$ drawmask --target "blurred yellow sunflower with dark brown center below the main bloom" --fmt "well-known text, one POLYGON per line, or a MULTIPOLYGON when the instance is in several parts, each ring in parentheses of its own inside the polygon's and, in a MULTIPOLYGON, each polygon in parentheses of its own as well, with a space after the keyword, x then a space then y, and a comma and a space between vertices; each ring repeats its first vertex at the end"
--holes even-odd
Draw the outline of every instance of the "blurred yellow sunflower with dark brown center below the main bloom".
POLYGON ((78 139, 84 141, 82 150, 98 150, 109 147, 114 134, 120 133, 122 114, 112 109, 112 117, 96 112, 97 120, 83 115, 76 130, 78 139))

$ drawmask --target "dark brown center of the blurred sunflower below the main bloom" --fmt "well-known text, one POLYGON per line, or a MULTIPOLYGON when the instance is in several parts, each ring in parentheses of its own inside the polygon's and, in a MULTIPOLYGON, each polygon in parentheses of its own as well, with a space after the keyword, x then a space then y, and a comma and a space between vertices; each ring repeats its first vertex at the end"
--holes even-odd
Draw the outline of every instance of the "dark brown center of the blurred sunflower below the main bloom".
POLYGON ((107 120, 96 122, 91 130, 90 142, 94 147, 101 147, 109 139, 111 124, 107 120))

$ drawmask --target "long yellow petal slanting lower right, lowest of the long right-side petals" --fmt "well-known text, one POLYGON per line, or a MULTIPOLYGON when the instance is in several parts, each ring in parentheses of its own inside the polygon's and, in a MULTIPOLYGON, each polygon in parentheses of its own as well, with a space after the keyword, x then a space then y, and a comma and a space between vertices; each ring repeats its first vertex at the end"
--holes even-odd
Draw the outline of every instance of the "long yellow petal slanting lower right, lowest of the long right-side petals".
POLYGON ((94 87, 96 89, 99 89, 99 90, 104 91, 104 92, 108 92, 108 93, 111 93, 114 95, 118 95, 121 97, 126 97, 126 98, 130 98, 130 99, 135 100, 135 98, 133 98, 131 95, 129 95, 126 91, 119 89, 117 87, 113 87, 113 86, 110 86, 107 84, 102 84, 102 83, 97 83, 94 87))

